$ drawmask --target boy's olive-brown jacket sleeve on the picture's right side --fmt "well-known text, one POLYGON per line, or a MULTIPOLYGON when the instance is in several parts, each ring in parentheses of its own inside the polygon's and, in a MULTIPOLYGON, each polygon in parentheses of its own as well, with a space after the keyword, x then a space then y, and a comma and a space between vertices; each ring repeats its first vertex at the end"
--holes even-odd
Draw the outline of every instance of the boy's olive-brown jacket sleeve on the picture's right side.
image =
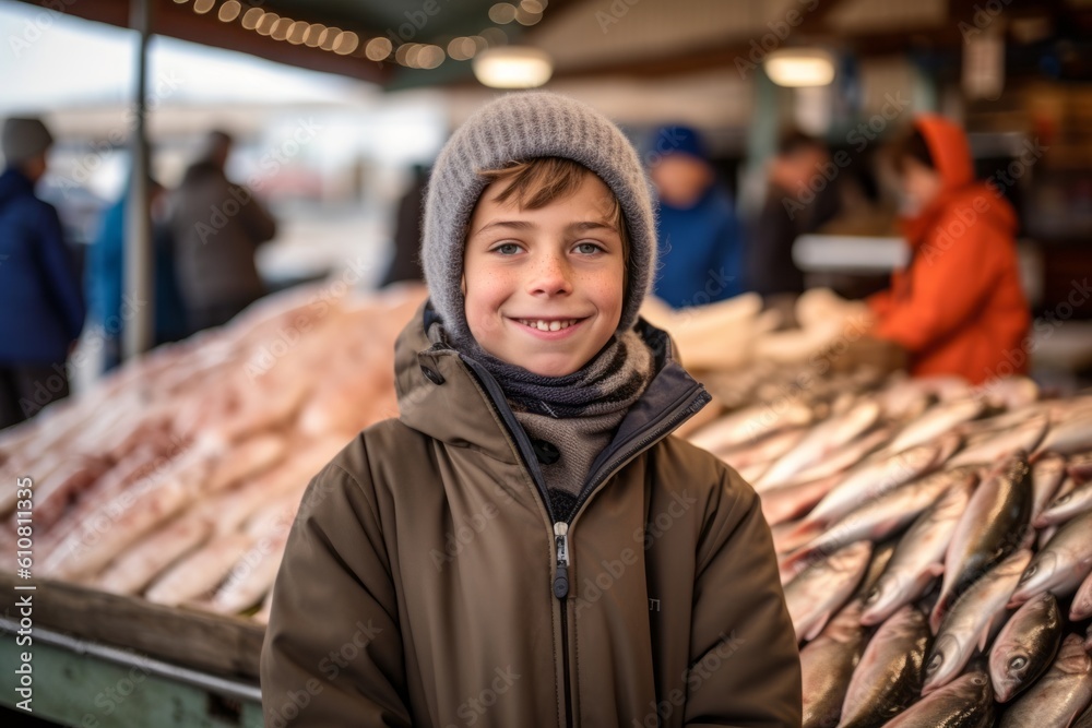
POLYGON ((758 496, 725 470, 699 546, 686 725, 798 727, 800 657, 758 496))

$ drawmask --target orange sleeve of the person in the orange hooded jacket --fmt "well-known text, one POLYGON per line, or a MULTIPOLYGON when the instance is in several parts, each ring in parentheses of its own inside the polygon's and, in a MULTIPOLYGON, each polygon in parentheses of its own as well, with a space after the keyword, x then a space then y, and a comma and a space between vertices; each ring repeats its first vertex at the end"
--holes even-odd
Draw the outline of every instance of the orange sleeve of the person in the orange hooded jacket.
MULTIPOLYGON (((949 229, 950 222, 942 218, 937 229, 949 229)), ((930 236, 914 255, 910 296, 880 317, 875 335, 916 354, 964 325, 996 284, 987 235, 988 229, 978 225, 959 237, 930 236)))

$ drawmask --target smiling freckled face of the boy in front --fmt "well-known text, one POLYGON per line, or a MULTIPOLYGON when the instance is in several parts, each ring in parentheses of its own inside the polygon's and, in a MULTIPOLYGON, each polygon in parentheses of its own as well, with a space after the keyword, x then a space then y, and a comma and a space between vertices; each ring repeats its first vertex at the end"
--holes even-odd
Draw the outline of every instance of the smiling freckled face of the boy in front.
POLYGON ((583 367, 618 329, 622 241, 614 198, 589 172, 577 192, 539 210, 507 180, 482 193, 471 217, 463 286, 466 323, 492 356, 544 377, 583 367), (544 331, 544 329, 546 331, 544 331))

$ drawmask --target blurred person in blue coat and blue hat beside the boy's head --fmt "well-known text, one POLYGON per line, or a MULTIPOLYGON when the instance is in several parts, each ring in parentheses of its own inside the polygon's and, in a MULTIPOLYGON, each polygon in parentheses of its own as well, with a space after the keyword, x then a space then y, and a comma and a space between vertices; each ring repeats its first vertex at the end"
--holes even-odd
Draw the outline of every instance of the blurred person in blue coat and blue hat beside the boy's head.
POLYGON ((739 224, 699 133, 689 127, 663 127, 645 159, 660 195, 656 232, 662 264, 655 295, 684 308, 739 294, 739 224))

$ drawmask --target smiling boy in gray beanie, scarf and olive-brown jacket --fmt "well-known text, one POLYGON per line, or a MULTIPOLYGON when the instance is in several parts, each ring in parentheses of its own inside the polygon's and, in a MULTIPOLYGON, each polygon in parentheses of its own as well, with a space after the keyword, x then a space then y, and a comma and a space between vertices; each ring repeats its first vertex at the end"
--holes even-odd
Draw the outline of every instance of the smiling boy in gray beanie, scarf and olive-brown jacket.
POLYGON ((311 482, 266 725, 798 726, 753 491, 668 437, 709 399, 638 321, 649 188, 614 124, 515 94, 448 142, 401 416, 311 482))

